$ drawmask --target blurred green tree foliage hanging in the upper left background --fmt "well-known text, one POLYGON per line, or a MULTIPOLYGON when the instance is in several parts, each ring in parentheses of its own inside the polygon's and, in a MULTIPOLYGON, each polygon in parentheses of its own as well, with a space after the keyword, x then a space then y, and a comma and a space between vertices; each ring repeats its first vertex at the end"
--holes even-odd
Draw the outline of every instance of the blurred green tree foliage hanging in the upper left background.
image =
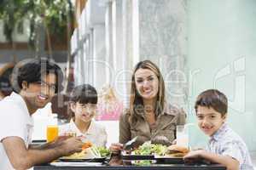
MULTIPOLYGON (((68 0, 1 0, 0 20, 4 22, 4 35, 12 41, 14 29, 24 19, 31 22, 29 42, 35 38, 35 26, 45 20, 50 33, 63 35, 67 29, 67 16, 73 16, 73 7, 68 0)), ((63 36, 61 36, 63 37, 63 36)))

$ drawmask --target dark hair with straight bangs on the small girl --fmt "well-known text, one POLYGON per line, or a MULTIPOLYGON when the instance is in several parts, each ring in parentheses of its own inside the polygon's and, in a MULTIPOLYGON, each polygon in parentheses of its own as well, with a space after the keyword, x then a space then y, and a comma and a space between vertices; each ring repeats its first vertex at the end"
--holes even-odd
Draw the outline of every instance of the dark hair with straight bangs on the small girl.
POLYGON ((83 84, 75 87, 70 95, 71 102, 80 104, 97 104, 98 97, 96 89, 90 84, 83 84))

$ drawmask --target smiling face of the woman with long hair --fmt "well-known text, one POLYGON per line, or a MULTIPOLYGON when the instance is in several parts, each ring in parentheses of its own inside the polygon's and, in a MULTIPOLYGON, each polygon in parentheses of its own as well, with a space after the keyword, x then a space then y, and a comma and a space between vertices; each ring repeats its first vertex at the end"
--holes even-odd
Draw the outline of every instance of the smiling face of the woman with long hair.
POLYGON ((156 98, 159 90, 159 79, 153 71, 149 69, 138 69, 134 77, 137 92, 143 99, 156 98))

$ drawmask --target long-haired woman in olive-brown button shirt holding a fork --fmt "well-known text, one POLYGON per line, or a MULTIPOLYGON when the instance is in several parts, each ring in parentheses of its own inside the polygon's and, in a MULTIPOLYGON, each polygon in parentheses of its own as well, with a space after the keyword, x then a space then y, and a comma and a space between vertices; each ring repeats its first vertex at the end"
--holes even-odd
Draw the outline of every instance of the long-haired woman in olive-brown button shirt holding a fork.
POLYGON ((172 144, 176 126, 185 123, 185 113, 166 103, 165 83, 159 68, 150 60, 139 62, 131 77, 130 108, 119 119, 119 143, 110 149, 118 153, 123 144, 137 136, 137 147, 151 140, 172 144))

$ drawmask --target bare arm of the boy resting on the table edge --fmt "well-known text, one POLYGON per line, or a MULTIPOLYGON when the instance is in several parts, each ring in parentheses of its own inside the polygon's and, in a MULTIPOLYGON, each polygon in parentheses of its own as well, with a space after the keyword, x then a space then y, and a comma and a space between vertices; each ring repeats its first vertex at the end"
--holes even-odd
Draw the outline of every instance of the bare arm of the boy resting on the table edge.
POLYGON ((215 163, 219 163, 227 167, 227 170, 239 170, 239 161, 230 156, 221 156, 207 152, 206 150, 194 150, 190 151, 187 156, 184 156, 185 160, 193 159, 206 159, 215 163))

